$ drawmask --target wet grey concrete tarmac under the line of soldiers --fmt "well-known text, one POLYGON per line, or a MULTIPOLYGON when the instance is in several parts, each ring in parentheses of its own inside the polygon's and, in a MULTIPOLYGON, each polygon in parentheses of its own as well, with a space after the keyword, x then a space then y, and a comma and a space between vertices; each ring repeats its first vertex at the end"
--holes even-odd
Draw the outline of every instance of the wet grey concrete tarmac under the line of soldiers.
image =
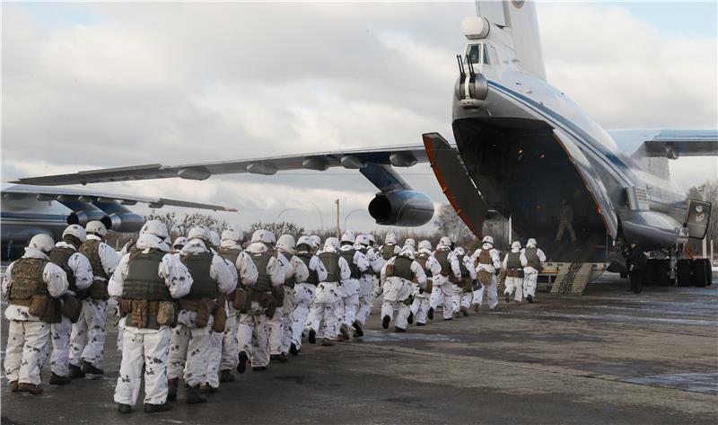
MULTIPOLYGON (((718 283, 718 281, 716 281, 718 283)), ((3 424, 712 424, 718 423, 718 285, 645 288, 606 275, 583 297, 539 293, 407 333, 381 330, 237 375, 200 405, 119 414, 110 325, 105 375, 11 394, 3 424)), ((115 318, 110 317, 114 323, 115 318)), ((393 330, 393 324, 392 328, 393 330)), ((3 321, 3 349, 7 321, 3 321)), ((43 380, 49 379, 49 370, 43 380)))

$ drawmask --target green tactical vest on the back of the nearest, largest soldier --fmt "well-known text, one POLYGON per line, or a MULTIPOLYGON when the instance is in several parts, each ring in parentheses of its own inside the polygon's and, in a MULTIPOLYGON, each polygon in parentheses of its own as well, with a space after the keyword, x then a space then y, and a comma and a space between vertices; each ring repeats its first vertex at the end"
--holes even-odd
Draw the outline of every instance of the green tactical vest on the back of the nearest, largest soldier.
POLYGON ((144 301, 171 301, 170 289, 158 271, 166 252, 135 251, 127 261, 127 278, 122 286, 122 298, 144 301))

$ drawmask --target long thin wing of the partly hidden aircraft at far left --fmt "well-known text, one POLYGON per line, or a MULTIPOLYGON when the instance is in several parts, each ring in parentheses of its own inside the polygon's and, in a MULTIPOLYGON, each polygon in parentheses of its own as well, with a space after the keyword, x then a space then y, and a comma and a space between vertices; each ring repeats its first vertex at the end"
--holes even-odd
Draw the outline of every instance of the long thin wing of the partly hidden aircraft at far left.
POLYGON ((215 211, 237 211, 235 208, 223 207, 221 205, 202 204, 186 200, 167 198, 148 198, 141 196, 118 195, 106 192, 89 190, 57 189, 38 186, 14 185, 3 188, 3 199, 22 199, 33 197, 38 200, 57 200, 60 202, 85 202, 112 204, 119 202, 122 205, 136 205, 137 203, 147 204, 150 208, 162 208, 164 206, 213 209, 215 211))

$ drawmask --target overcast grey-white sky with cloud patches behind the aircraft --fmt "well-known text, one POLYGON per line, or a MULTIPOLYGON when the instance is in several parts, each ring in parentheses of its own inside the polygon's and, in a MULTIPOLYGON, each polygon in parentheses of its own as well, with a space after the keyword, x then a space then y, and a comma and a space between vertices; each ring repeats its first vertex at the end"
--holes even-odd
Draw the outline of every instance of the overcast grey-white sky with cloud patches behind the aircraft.
MULTIPOLYGON (((475 13, 473 2, 2 8, 4 182, 420 144, 427 131, 452 139, 460 22, 475 13)), ((718 127, 714 2, 537 9, 548 81, 604 128, 718 127)), ((672 171, 688 187, 715 177, 716 161, 680 159, 672 171)), ((445 202, 428 166, 403 174, 445 202)), ((348 226, 375 227, 366 205, 376 190, 344 170, 88 188, 221 203, 245 227, 280 214, 330 226, 338 198, 348 226)))

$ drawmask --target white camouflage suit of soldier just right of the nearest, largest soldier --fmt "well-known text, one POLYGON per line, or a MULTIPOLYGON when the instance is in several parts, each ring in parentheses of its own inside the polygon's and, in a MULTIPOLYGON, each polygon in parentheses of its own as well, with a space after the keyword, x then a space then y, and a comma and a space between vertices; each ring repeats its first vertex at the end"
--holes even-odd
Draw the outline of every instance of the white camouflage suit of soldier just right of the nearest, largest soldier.
MULTIPOLYGON (((180 259, 189 255, 210 252, 201 239, 190 239, 182 250, 174 255, 180 259)), ((209 267, 209 277, 213 279, 221 294, 229 294, 237 288, 237 271, 222 257, 214 254, 209 267)), ((193 285, 195 283, 193 282, 193 285)), ((191 292, 191 287, 190 287, 191 292)), ((212 331, 214 317, 209 316, 205 326, 197 326, 197 312, 180 309, 177 326, 172 329, 170 356, 168 358, 167 376, 169 379, 184 377, 186 385, 196 386, 207 383, 207 367, 212 349, 212 331)), ((212 374, 219 374, 219 362, 212 365, 212 374)), ((219 385, 217 381, 216 385, 219 385)))

